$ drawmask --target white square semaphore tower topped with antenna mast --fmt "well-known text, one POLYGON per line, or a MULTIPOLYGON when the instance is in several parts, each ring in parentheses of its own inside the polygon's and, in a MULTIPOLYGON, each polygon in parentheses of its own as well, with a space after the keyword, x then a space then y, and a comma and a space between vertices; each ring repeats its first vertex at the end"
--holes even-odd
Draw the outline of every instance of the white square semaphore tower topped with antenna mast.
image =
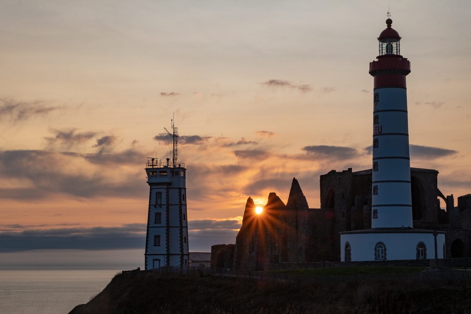
POLYGON ((185 164, 178 162, 178 129, 172 120, 172 159, 148 158, 149 192, 145 268, 188 266, 187 188, 185 164))

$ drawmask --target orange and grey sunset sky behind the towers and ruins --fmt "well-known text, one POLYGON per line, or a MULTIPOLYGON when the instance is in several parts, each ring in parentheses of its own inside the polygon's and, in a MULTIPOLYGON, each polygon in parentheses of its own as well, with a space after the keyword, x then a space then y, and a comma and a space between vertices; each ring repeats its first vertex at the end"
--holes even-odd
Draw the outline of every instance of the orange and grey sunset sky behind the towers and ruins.
MULTIPOLYGON (((235 243, 245 201, 371 168, 369 62, 402 36, 411 166, 471 193, 468 0, 0 4, 0 268, 143 266, 146 157, 187 165, 190 251, 235 243)), ((442 207, 444 203, 442 201, 442 207)))

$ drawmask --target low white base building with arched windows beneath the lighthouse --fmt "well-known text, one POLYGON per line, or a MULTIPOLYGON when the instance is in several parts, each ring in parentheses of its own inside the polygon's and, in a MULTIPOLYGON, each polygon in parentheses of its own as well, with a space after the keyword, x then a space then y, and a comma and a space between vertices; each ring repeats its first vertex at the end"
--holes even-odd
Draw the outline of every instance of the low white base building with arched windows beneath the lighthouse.
POLYGON ((445 258, 445 232, 373 228, 340 233, 341 261, 445 258))

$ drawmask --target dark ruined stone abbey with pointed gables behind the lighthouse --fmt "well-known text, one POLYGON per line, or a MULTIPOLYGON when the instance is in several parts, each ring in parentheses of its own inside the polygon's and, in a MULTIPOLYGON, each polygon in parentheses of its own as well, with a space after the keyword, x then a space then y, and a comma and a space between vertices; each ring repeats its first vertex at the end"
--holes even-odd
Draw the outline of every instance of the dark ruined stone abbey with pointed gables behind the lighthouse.
MULTIPOLYGON (((455 207, 453 195, 440 192, 438 173, 411 168, 414 228, 446 231, 447 258, 471 257, 471 194, 458 197, 455 207), (446 210, 440 209, 438 198, 446 202, 446 210)), ((371 179, 371 169, 332 170, 320 176, 317 209, 309 208, 295 178, 286 203, 270 193, 260 215, 249 197, 235 246, 224 252, 233 260, 220 260, 219 265, 262 270, 284 262, 340 261, 339 233, 371 228, 371 179)))

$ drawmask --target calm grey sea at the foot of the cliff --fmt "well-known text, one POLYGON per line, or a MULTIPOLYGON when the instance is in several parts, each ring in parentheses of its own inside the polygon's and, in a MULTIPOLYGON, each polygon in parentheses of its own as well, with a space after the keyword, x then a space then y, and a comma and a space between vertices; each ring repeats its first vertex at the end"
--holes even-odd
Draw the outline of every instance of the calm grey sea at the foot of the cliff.
POLYGON ((118 270, 0 270, 1 314, 67 314, 118 270))

